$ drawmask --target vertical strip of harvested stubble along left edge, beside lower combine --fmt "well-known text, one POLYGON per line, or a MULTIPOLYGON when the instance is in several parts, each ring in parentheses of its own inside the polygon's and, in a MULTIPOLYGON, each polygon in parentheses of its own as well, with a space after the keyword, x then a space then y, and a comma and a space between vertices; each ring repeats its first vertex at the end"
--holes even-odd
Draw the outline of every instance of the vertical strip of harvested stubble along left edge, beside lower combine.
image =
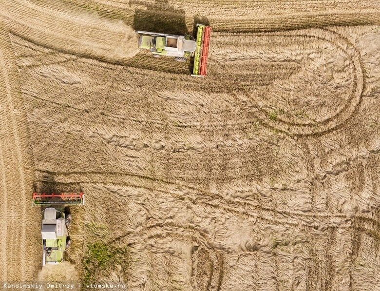
POLYGON ((25 140, 28 136, 28 128, 23 101, 16 89, 17 65, 12 55, 9 35, 3 30, 0 30, 0 67, 0 108, 3 110, 0 116, 2 119, 0 152, 4 164, 2 178, 5 177, 3 200, 6 202, 3 206, 6 218, 4 226, 1 226, 4 228, 3 232, 6 232, 6 235, 2 237, 5 241, 3 244, 6 245, 6 254, 5 260, 1 261, 6 268, 7 280, 28 280, 32 279, 36 272, 33 269, 36 261, 30 261, 27 258, 34 255, 31 249, 34 250, 35 246, 30 236, 34 234, 38 221, 32 223, 27 221, 27 217, 34 218, 27 203, 30 201, 27 195, 31 194, 31 187, 29 187, 31 181, 24 170, 24 165, 30 164, 30 161, 25 159, 28 156, 25 152, 28 149, 25 140))

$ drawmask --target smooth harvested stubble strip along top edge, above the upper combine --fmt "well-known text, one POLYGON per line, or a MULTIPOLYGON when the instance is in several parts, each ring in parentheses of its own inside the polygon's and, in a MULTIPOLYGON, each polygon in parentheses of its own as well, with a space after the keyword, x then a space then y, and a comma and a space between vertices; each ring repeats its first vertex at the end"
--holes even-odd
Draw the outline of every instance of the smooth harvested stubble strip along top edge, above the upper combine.
MULTIPOLYGON (((186 22, 189 30, 193 29, 194 22, 204 22, 210 24, 214 30, 222 31, 274 31, 297 29, 307 26, 322 27, 325 25, 360 25, 368 23, 378 23, 380 21, 376 11, 379 7, 376 1, 366 2, 344 1, 337 4, 334 1, 323 1, 323 4, 313 3, 312 5, 304 1, 281 1, 275 2, 220 2, 220 1, 170 1, 164 3, 152 3, 151 1, 129 2, 97 0, 88 1, 86 5, 76 0, 70 1, 77 6, 92 7, 100 14, 112 17, 117 16, 126 21, 134 21, 133 10, 153 12, 156 15, 162 14, 165 17, 171 15, 171 11, 176 12, 171 17, 181 19, 186 22), (361 9, 358 8, 358 5, 361 9), (362 7, 362 5, 364 5, 362 7), (198 16, 193 11, 198 11, 203 7, 205 12, 198 16), (241 7, 244 7, 242 9, 241 7), (348 8, 350 7, 350 8, 348 8), (364 8, 365 7, 365 8, 364 8), (226 17, 233 15, 234 18, 226 17), (254 17, 252 17, 254 15, 254 17)), ((169 16, 170 17, 170 16, 169 16)), ((163 17, 160 17, 163 18, 163 17)))

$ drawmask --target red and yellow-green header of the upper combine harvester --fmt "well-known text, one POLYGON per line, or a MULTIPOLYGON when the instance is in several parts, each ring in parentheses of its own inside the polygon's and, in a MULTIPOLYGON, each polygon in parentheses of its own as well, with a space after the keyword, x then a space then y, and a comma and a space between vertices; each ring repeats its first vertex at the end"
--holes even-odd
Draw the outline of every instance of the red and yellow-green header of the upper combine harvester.
POLYGON ((191 76, 204 78, 207 75, 211 27, 202 24, 197 24, 197 27, 197 45, 194 55, 194 69, 191 76))

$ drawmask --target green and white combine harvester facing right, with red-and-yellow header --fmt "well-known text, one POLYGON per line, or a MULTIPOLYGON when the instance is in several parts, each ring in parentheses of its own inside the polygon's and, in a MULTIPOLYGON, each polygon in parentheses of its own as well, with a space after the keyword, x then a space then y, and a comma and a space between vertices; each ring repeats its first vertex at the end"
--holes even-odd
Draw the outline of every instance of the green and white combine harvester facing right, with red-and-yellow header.
POLYGON ((179 62, 186 62, 187 58, 194 57, 191 76, 206 77, 211 27, 197 24, 196 40, 191 40, 189 35, 178 36, 141 30, 136 33, 140 35, 140 49, 149 50, 153 57, 174 57, 179 62))

